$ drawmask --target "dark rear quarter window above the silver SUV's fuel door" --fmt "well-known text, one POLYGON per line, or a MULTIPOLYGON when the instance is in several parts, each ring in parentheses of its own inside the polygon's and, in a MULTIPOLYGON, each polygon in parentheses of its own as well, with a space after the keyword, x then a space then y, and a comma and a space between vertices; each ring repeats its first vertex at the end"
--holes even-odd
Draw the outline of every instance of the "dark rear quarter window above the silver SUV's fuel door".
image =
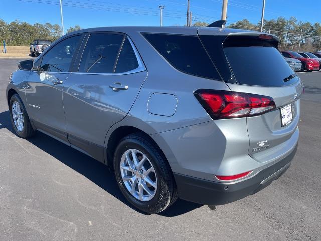
POLYGON ((197 36, 144 34, 176 69, 200 77, 221 79, 197 36))

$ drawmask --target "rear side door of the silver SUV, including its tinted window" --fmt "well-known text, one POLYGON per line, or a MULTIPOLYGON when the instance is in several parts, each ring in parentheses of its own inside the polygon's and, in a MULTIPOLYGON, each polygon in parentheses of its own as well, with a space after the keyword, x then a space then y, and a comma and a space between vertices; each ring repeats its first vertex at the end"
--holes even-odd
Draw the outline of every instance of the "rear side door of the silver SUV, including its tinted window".
POLYGON ((131 40, 119 33, 87 34, 76 69, 64 85, 68 140, 103 161, 106 133, 133 105, 147 77, 131 40))

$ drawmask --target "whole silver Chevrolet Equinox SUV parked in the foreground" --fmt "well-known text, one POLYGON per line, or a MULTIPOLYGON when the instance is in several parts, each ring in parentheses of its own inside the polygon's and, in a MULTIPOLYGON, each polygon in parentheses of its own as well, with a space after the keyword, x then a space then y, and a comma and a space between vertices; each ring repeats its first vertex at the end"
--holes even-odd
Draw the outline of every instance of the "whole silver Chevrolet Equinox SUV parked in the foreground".
POLYGON ((233 202, 280 177, 297 149, 303 85, 277 45, 223 26, 72 32, 11 75, 12 125, 111 166, 143 212, 178 197, 233 202))

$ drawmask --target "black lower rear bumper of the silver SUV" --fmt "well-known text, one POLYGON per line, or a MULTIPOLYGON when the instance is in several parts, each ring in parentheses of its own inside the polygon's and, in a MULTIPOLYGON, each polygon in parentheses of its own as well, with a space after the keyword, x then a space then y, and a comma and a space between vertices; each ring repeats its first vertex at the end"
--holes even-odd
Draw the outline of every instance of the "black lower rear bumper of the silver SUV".
MULTIPOLYGON (((174 173, 181 199, 206 205, 223 205, 254 194, 278 179, 290 166, 297 150, 255 176, 237 183, 219 183, 174 173)), ((214 177, 213 177, 214 178, 214 177)))

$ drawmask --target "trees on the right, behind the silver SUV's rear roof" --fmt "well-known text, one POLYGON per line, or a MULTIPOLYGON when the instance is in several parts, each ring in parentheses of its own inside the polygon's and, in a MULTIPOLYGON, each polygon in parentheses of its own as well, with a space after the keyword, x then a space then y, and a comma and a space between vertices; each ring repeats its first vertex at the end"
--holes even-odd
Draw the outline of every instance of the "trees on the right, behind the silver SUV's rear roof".
MULTIPOLYGON (((208 23, 196 22, 193 26, 207 26, 208 23)), ((251 23, 247 19, 237 21, 227 26, 234 29, 248 29, 253 31, 261 30, 261 22, 257 24, 251 23)), ((280 50, 293 50, 314 52, 321 48, 321 24, 316 22, 298 21, 295 17, 285 19, 278 17, 264 21, 263 32, 271 33, 279 37, 280 50)))

